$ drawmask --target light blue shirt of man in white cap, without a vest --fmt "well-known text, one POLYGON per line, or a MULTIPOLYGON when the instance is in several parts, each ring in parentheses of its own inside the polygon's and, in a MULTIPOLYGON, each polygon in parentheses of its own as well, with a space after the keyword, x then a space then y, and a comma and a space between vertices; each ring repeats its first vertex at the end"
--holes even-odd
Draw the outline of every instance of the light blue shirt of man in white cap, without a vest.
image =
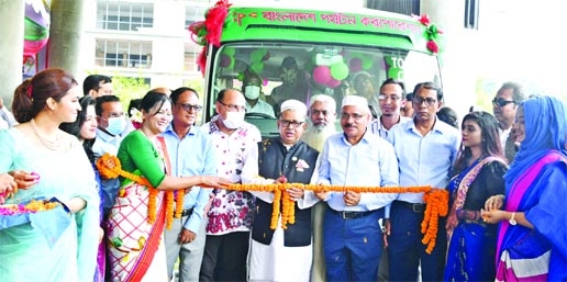
MULTIPOLYGON (((331 135, 320 156, 319 183, 331 185, 397 187, 398 160, 391 144, 366 131, 360 142, 351 145, 344 133, 331 135)), ((335 211, 365 212, 389 205, 394 193, 362 193, 356 206, 346 206, 343 192, 331 192, 325 199, 335 211)))

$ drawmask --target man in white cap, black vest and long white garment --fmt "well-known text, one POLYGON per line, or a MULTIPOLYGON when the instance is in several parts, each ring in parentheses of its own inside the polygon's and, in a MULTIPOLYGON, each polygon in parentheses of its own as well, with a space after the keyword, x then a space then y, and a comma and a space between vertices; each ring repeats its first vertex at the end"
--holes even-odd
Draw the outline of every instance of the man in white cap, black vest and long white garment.
MULTIPOLYGON (((281 103, 279 136, 264 139, 243 169, 243 182, 252 184, 315 183, 319 151, 300 140, 307 128, 307 106, 298 100, 281 103)), ((270 228, 274 192, 252 192, 256 210, 252 227, 249 281, 309 282, 312 262, 311 206, 319 200, 312 191, 290 188, 294 223, 284 230, 281 217, 270 228)))

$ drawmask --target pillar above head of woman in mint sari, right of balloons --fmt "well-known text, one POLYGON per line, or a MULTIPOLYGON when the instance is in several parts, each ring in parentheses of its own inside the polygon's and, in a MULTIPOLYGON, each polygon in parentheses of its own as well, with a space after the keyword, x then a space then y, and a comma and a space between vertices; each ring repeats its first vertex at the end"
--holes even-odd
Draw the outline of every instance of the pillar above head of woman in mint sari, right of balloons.
POLYGON ((63 68, 78 76, 82 68, 81 35, 85 0, 53 0, 52 26, 47 45, 49 68, 63 68))

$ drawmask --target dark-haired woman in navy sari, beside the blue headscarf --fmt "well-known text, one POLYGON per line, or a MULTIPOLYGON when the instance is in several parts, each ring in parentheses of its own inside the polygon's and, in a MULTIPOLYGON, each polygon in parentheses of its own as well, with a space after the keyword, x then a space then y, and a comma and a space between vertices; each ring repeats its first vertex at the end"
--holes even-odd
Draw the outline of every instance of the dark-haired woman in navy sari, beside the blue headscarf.
POLYGON ((494 280, 498 225, 480 217, 491 195, 504 193, 504 161, 498 121, 487 112, 463 119, 463 143, 449 182, 452 208, 447 218, 448 251, 445 281, 494 280))

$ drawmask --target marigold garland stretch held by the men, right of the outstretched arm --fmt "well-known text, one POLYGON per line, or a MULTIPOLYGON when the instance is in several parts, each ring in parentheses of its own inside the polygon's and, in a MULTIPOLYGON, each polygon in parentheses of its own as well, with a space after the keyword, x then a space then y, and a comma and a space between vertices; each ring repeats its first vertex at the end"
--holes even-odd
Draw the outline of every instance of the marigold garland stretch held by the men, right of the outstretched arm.
POLYGON ((280 216, 281 228, 286 229, 288 224, 293 224, 296 202, 291 200, 286 190, 300 188, 315 192, 357 192, 357 193, 424 193, 423 201, 426 204, 421 233, 424 234, 422 242, 427 245, 426 251, 431 253, 435 247, 437 237, 438 217, 448 213, 448 192, 444 189, 432 189, 431 187, 338 187, 301 183, 278 183, 278 184, 231 184, 230 190, 235 191, 265 191, 274 192, 273 213, 270 228, 276 229, 280 216), (284 193, 286 192, 286 193, 284 193))

